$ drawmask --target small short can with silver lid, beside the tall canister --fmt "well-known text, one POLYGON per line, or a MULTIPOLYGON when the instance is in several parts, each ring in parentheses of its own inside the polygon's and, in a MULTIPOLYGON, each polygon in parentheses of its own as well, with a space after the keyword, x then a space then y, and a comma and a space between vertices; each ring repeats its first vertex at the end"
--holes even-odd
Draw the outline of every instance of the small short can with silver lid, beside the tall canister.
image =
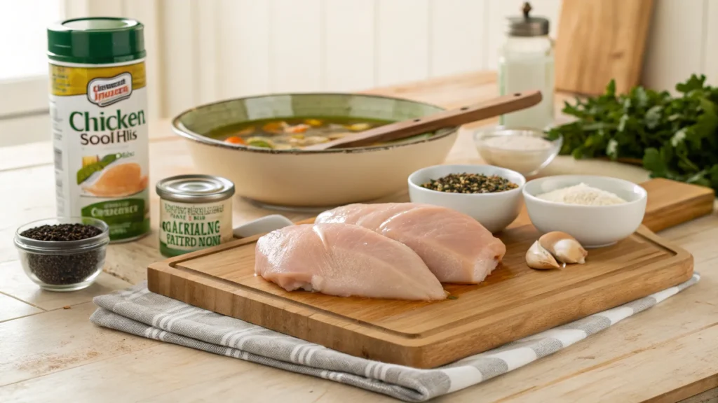
POLYGON ((232 240, 234 184, 220 176, 179 175, 157 183, 159 252, 167 257, 232 240))

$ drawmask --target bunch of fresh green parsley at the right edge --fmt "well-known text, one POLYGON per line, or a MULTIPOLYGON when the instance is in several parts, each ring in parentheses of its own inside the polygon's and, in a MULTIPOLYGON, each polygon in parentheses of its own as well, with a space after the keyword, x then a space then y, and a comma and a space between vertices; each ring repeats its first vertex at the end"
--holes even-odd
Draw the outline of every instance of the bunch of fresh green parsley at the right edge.
POLYGON ((718 190, 718 87, 691 75, 676 85, 678 96, 633 87, 616 95, 611 80, 598 97, 564 103, 577 118, 551 128, 564 136, 561 154, 574 158, 635 158, 653 178, 668 178, 718 190))

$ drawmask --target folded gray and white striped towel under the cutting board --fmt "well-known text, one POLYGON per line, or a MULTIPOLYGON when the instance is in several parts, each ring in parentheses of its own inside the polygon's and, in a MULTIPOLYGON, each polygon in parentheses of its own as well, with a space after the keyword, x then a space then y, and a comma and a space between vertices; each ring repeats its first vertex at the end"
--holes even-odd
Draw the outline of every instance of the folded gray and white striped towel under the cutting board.
POLYGON ((406 402, 424 402, 479 384, 564 349, 651 308, 699 279, 699 274, 695 273, 690 280, 675 287, 437 369, 415 369, 349 356, 150 293, 146 283, 95 297, 94 302, 99 308, 90 321, 137 336, 319 376, 406 402))

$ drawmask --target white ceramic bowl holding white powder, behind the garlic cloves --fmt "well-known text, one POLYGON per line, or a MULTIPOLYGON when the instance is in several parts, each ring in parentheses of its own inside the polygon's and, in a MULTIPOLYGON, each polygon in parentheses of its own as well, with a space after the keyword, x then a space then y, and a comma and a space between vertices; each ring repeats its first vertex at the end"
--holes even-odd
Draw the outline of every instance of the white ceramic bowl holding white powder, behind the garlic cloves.
POLYGON ((584 247, 612 245, 633 234, 645 214, 645 189, 630 181, 593 175, 559 175, 528 181, 523 187, 528 217, 541 232, 572 234, 584 247), (611 206, 582 206, 538 199, 539 194, 577 184, 587 184, 628 201, 611 206))

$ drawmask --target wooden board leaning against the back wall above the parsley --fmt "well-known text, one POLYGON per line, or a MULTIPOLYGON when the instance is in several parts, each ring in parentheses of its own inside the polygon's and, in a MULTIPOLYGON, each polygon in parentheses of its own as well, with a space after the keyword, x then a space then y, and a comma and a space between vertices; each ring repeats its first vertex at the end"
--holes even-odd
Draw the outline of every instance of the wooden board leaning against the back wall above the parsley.
POLYGON ((556 89, 618 93, 640 81, 653 0, 564 0, 556 38, 556 89))

